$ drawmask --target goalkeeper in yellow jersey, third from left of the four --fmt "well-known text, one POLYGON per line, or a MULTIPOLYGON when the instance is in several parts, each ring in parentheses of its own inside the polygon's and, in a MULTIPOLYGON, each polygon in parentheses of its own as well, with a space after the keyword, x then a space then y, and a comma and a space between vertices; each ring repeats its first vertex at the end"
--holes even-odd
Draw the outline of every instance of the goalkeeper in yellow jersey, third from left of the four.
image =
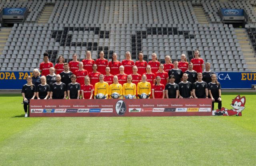
POLYGON ((127 76, 127 83, 123 84, 124 98, 136 98, 136 85, 132 83, 132 76, 127 76))

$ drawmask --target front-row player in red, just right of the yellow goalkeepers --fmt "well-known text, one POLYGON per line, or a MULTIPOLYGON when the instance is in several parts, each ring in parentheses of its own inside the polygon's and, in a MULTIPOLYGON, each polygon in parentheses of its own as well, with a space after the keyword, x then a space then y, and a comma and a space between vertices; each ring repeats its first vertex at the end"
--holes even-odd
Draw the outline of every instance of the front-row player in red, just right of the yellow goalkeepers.
POLYGON ((156 83, 151 88, 153 98, 164 98, 165 86, 160 83, 161 80, 160 76, 156 76, 156 83))

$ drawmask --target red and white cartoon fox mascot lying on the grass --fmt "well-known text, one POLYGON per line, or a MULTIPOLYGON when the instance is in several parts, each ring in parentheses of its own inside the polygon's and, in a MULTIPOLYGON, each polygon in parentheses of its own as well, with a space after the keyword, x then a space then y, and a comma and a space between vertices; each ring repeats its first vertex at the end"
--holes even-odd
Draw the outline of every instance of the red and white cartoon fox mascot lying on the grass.
POLYGON ((244 110, 245 108, 245 96, 236 96, 236 98, 232 100, 232 104, 230 105, 233 107, 233 109, 228 110, 222 107, 220 110, 213 110, 212 114, 217 116, 242 116, 242 110, 244 110))

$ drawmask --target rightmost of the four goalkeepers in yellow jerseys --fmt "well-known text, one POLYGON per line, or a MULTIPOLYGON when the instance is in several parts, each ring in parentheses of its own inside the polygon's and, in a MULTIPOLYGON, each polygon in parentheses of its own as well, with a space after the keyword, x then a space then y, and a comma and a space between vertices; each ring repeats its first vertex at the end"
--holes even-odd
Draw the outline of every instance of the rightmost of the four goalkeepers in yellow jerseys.
POLYGON ((151 93, 151 84, 146 81, 147 77, 145 74, 142 76, 142 82, 137 85, 137 94, 139 98, 149 98, 151 93))

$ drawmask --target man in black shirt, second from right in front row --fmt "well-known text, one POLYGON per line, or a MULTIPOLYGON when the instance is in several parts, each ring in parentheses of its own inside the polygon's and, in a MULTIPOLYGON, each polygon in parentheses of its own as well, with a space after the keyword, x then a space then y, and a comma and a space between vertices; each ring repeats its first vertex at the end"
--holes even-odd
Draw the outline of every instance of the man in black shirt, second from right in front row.
POLYGON ((202 81, 202 78, 202 73, 197 73, 198 81, 192 86, 194 98, 208 98, 208 86, 206 82, 202 81))

